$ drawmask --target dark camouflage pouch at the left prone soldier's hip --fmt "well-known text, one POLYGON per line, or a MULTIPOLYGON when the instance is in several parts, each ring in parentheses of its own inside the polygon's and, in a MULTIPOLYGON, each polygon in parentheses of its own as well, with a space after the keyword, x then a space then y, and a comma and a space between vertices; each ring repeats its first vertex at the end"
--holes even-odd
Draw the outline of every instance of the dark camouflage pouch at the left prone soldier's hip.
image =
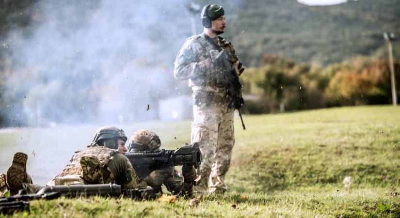
POLYGON ((82 156, 80 158, 80 176, 88 184, 103 183, 101 169, 101 163, 96 156, 82 156))

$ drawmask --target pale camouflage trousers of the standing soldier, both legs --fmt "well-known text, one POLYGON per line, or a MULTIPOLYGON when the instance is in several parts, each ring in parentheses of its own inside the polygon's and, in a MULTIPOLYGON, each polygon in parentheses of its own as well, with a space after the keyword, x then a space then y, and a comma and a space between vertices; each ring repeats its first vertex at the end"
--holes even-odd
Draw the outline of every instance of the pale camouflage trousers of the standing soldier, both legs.
POLYGON ((197 169, 194 190, 216 193, 227 190, 225 174, 229 169, 235 144, 233 127, 234 109, 227 104, 194 105, 192 143, 198 142, 202 163, 197 169))

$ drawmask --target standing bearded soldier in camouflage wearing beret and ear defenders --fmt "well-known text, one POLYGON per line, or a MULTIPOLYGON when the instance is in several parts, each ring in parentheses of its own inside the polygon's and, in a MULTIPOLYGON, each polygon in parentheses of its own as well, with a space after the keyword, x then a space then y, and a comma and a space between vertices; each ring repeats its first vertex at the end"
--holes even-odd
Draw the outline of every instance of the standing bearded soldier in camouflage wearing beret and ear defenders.
POLYGON ((205 6, 201 21, 204 32, 186 40, 176 57, 174 76, 188 79, 193 91, 191 140, 199 143, 203 155, 194 189, 200 193, 221 193, 227 190, 224 177, 235 143, 234 108, 227 92, 229 80, 221 73, 225 69, 217 63, 216 56, 225 50, 231 67, 240 73, 244 67, 232 44, 218 36, 226 25, 224 9, 205 6))

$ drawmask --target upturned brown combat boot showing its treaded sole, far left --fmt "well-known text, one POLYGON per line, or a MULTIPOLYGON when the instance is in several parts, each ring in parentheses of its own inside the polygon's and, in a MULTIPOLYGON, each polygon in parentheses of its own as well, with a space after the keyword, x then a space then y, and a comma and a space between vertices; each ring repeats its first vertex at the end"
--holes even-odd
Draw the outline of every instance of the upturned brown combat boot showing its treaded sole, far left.
POLYGON ((14 155, 13 163, 7 170, 6 183, 9 189, 22 189, 22 183, 27 179, 26 161, 28 155, 22 152, 17 152, 14 155))

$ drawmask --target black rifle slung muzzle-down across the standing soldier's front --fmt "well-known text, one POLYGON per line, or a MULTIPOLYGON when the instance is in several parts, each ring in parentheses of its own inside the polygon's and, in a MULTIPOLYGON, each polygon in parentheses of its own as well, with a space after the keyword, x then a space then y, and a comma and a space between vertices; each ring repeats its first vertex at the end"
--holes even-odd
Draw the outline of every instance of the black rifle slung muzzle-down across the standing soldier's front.
POLYGON ((226 74, 228 79, 228 87, 227 87, 228 94, 233 98, 231 104, 234 109, 237 109, 239 111, 241 125, 243 127, 243 130, 246 130, 246 126, 244 126, 243 118, 241 117, 241 112, 240 112, 240 108, 244 104, 244 100, 241 95, 242 87, 240 84, 239 76, 236 73, 235 68, 233 68, 229 63, 228 58, 226 57, 225 50, 220 51, 215 60, 220 66, 223 67, 223 69, 226 69, 223 73, 226 74))

